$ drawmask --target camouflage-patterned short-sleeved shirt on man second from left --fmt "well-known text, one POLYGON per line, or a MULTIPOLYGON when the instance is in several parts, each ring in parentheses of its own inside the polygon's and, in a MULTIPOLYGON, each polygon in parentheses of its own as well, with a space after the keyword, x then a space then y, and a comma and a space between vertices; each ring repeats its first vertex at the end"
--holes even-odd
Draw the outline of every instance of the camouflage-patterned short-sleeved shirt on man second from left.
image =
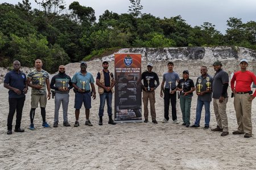
POLYGON ((46 94, 46 79, 49 78, 49 73, 45 70, 32 70, 27 74, 27 78, 31 79, 33 85, 42 85, 42 88, 32 88, 31 95, 43 95, 46 94))

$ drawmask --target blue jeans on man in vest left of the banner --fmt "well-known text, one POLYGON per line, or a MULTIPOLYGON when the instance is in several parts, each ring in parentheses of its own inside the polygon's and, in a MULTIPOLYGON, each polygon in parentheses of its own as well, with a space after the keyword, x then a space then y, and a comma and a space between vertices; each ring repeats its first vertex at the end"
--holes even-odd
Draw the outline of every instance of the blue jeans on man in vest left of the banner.
POLYGON ((98 116, 103 116, 105 100, 108 105, 108 115, 112 116, 112 92, 103 93, 100 95, 100 108, 98 109, 98 116))

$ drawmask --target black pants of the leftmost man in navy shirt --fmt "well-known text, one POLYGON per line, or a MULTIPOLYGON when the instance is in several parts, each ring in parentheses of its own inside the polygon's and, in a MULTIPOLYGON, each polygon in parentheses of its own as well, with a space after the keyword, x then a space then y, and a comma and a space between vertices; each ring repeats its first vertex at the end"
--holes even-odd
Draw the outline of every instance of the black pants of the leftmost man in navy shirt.
POLYGON ((16 111, 16 125, 15 129, 20 128, 20 122, 22 119, 22 109, 26 97, 22 98, 9 98, 9 114, 7 119, 7 129, 13 129, 13 117, 16 111))

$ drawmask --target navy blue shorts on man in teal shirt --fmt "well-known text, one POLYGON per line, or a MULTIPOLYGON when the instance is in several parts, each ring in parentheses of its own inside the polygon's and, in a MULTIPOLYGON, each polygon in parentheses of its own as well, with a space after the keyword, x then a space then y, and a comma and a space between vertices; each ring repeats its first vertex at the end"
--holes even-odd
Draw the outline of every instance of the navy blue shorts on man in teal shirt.
POLYGON ((84 102, 85 109, 92 108, 90 92, 88 92, 88 93, 76 92, 74 108, 75 109, 81 109, 82 102, 84 102))

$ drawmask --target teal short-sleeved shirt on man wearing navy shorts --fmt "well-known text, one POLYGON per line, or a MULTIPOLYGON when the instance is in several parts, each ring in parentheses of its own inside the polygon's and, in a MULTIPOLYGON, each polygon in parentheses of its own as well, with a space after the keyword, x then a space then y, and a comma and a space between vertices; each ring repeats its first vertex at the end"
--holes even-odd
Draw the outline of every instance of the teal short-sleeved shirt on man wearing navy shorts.
POLYGON ((92 74, 90 74, 89 72, 86 72, 86 74, 84 75, 81 73, 81 71, 79 71, 74 74, 71 82, 75 83, 77 87, 88 91, 90 90, 90 83, 94 83, 94 79, 92 74), (83 82, 85 82, 84 85, 82 85, 83 82))

